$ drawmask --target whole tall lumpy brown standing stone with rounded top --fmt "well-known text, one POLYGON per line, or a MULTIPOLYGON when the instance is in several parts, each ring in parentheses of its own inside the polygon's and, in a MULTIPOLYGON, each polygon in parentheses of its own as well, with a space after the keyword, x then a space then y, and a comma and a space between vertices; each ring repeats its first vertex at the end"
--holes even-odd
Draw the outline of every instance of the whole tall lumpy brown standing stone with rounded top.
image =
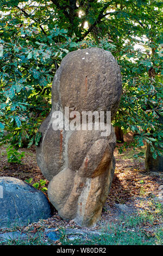
POLYGON ((120 68, 112 54, 101 48, 68 53, 54 76, 52 110, 40 126, 36 154, 41 172, 50 181, 49 200, 64 220, 93 227, 101 217, 114 175, 116 136, 112 126, 107 137, 102 130, 54 131, 53 113, 61 111, 65 117, 69 107, 80 114, 111 111, 114 118, 121 90, 120 68))

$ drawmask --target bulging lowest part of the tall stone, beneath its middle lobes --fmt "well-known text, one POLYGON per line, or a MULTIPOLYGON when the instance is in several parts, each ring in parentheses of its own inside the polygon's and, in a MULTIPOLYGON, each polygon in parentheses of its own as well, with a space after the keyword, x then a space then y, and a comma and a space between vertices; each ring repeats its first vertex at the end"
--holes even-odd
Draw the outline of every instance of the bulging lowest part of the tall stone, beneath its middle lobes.
POLYGON ((48 197, 58 214, 66 221, 74 220, 82 227, 95 227, 101 218, 114 176, 115 160, 95 178, 84 178, 65 169, 54 176, 48 186, 48 197))

